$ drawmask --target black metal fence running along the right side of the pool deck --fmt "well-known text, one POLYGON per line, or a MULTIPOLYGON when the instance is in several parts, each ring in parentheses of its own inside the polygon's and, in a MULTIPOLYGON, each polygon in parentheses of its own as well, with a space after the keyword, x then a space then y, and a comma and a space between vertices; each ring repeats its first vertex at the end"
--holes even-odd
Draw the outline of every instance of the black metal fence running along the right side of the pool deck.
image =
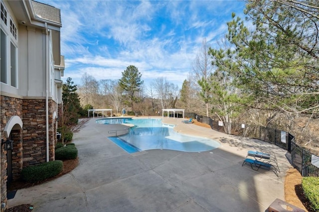
POLYGON ((209 124, 212 129, 218 132, 275 144, 291 153, 291 164, 303 177, 319 177, 319 168, 312 164, 312 161, 319 163, 319 151, 299 146, 295 142, 295 136, 288 132, 257 125, 224 123, 196 113, 185 113, 185 117, 194 118, 198 122, 209 124))

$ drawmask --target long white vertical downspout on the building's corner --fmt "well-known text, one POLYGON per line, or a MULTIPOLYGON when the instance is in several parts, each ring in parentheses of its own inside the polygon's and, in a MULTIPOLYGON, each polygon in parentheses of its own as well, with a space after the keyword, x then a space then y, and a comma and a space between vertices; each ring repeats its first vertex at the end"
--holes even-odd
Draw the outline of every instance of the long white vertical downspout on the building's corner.
POLYGON ((46 130, 46 162, 49 162, 49 47, 48 24, 45 24, 45 130, 46 130))

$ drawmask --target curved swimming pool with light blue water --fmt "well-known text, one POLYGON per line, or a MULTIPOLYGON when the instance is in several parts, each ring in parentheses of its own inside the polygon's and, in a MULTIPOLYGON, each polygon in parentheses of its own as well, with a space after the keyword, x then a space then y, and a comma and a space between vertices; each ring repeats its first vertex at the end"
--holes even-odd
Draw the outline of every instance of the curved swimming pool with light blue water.
POLYGON ((183 135, 173 130, 173 125, 163 124, 161 119, 107 118, 96 121, 103 124, 131 123, 129 133, 110 140, 129 153, 150 150, 170 149, 183 152, 202 152, 218 148, 217 141, 183 135))

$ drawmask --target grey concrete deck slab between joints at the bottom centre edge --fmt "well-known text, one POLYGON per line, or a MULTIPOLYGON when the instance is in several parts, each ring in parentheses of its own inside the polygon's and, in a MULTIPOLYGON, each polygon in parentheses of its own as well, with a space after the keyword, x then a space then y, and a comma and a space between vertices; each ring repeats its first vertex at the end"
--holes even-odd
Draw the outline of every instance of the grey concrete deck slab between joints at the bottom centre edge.
POLYGON ((92 189, 87 199, 96 212, 169 212, 190 201, 153 171, 92 189))

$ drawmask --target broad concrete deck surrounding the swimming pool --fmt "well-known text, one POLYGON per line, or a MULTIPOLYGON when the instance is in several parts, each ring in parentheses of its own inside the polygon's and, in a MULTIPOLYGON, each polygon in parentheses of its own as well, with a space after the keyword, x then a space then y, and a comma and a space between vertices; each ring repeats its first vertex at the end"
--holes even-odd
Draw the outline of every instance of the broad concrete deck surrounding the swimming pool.
POLYGON ((73 171, 18 190, 8 207, 31 204, 34 212, 265 212, 276 198, 285 200, 290 155, 275 145, 183 124, 182 118, 163 118, 178 133, 211 138, 221 146, 206 152, 129 154, 107 138, 109 131, 124 132, 128 126, 96 124, 97 119, 73 136, 79 151, 73 171), (248 150, 269 149, 277 156, 279 177, 242 166, 248 150))

